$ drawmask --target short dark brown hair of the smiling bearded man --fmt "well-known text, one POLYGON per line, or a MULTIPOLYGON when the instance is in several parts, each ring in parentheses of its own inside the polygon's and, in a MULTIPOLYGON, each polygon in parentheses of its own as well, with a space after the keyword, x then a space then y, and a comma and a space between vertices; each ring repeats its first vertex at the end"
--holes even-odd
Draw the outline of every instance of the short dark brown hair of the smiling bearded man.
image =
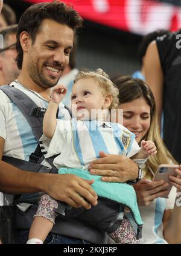
POLYGON ((44 19, 51 19, 63 25, 68 25, 74 30, 74 35, 77 29, 82 27, 83 19, 78 15, 77 11, 71 6, 63 2, 44 2, 42 4, 31 5, 21 16, 17 28, 17 67, 22 68, 23 50, 19 37, 22 32, 27 32, 32 43, 36 40, 37 34, 40 32, 40 27, 44 19))

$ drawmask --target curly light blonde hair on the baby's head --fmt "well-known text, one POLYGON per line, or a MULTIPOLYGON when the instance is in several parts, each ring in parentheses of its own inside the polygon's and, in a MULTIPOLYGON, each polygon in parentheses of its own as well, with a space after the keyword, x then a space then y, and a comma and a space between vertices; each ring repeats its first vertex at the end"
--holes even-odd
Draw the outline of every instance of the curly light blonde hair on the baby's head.
MULTIPOLYGON (((118 94, 119 91, 110 80, 109 75, 103 71, 103 69, 92 70, 82 70, 78 72, 74 83, 83 78, 94 78, 100 84, 103 95, 109 94, 112 97, 112 103, 109 106, 110 109, 116 109, 118 106, 118 94)), ((92 85, 94 86, 94 84, 92 85)))

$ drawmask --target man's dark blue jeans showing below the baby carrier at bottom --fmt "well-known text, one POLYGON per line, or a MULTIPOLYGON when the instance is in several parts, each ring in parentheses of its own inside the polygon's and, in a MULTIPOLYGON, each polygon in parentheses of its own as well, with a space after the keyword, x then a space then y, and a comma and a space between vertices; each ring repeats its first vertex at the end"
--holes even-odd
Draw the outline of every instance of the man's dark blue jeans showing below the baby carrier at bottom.
MULTIPOLYGON (((21 230, 17 236, 20 244, 25 244, 28 241, 29 230, 21 230)), ((67 237, 66 235, 59 235, 49 233, 46 237, 45 244, 88 244, 89 242, 74 237, 67 237)))

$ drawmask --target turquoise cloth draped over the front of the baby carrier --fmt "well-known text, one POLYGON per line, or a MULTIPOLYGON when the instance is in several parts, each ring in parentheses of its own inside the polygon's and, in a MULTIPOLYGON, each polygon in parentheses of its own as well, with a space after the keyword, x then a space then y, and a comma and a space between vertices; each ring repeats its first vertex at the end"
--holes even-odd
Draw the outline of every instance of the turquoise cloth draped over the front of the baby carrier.
POLYGON ((132 186, 125 183, 110 183, 101 181, 100 175, 91 175, 88 170, 83 169, 60 168, 59 173, 70 173, 77 175, 84 180, 95 180, 91 186, 95 190, 97 195, 121 204, 125 204, 125 206, 129 207, 133 218, 135 219, 135 222, 138 225, 143 224, 143 221, 139 214, 135 189, 132 186))

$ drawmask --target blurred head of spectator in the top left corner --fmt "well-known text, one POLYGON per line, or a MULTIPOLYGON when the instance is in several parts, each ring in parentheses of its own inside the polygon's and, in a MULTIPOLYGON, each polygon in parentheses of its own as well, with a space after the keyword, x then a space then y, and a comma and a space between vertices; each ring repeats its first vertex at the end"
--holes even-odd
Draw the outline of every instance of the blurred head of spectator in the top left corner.
POLYGON ((4 4, 0 15, 0 29, 5 29, 8 25, 16 24, 16 14, 13 9, 4 4))

